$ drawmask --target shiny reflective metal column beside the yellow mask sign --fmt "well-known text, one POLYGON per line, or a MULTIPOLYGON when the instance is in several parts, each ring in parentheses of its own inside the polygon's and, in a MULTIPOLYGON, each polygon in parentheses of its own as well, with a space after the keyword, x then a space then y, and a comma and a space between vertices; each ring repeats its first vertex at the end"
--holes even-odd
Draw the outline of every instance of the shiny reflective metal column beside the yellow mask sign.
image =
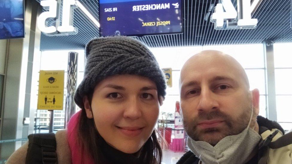
POLYGON ((69 52, 68 55, 68 72, 67 72, 67 94, 66 94, 66 111, 64 128, 73 114, 75 114, 76 106, 74 102, 74 94, 77 87, 77 62, 78 53, 69 52))

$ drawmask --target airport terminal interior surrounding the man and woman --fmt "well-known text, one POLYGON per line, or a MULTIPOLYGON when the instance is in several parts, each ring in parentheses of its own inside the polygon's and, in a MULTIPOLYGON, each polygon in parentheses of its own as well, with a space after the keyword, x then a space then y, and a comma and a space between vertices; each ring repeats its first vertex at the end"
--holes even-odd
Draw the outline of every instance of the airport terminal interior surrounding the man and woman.
POLYGON ((203 50, 235 58, 250 90, 259 90, 259 115, 291 131, 291 1, 253 0, 248 7, 250 0, 243 1, 0 0, 0 163, 29 134, 67 127, 81 110, 73 98, 84 76, 86 44, 107 36, 139 40, 165 73, 155 127, 167 142, 162 163, 174 164, 189 151, 176 110, 179 79, 184 63, 203 50), (227 10, 236 16, 224 17, 227 10))

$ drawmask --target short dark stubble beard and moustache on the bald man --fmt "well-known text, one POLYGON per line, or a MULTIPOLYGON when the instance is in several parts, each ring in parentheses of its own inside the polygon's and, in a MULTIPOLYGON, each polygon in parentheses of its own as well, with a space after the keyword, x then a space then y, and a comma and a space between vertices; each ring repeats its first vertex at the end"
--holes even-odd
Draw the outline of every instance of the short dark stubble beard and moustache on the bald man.
MULTIPOLYGON (((232 119, 228 114, 221 112, 220 110, 211 111, 209 113, 201 112, 198 114, 197 118, 192 121, 186 121, 182 117, 183 126, 191 139, 195 141, 208 142, 210 145, 215 146, 220 140, 226 136, 237 135, 241 133, 248 125, 250 120, 250 114, 252 111, 252 102, 249 106, 244 107, 241 115, 238 118, 232 119), (223 128, 207 128, 198 129, 198 122, 211 120, 211 119, 222 119, 224 120, 223 128)), ((253 119, 250 127, 253 127, 256 122, 255 110, 253 110, 253 119)))

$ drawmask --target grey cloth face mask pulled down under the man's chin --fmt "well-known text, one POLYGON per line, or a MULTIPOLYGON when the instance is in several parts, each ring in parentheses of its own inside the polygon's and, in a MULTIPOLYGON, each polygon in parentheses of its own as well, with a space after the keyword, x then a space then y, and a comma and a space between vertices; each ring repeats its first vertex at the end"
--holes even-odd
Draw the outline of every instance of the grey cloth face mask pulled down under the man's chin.
POLYGON ((224 137, 214 147, 190 137, 187 140, 188 147, 204 164, 242 164, 261 139, 257 132, 249 128, 252 116, 253 108, 247 128, 237 135, 224 137))

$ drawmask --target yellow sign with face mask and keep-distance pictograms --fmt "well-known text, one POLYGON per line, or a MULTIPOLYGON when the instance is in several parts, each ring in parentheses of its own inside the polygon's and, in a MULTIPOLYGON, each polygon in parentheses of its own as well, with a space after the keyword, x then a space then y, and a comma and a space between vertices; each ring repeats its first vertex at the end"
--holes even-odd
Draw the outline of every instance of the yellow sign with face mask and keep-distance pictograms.
POLYGON ((64 70, 40 70, 37 109, 63 110, 64 70))

